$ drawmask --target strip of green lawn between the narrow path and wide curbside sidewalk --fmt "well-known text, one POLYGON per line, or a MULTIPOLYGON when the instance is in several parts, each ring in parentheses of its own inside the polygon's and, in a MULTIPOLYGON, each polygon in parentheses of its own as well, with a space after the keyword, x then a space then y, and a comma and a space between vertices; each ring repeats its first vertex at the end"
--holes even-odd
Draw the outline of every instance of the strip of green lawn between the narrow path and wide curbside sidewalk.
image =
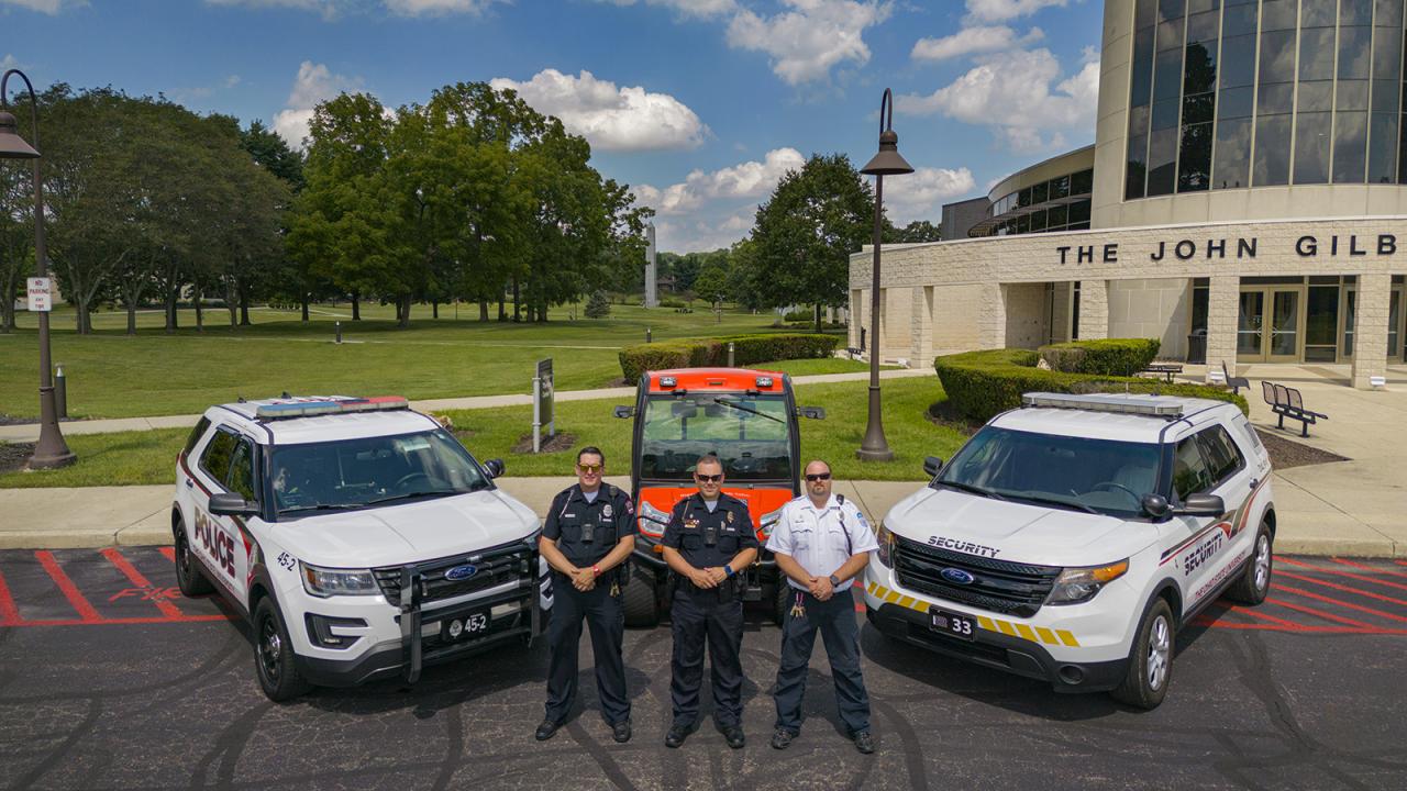
MULTIPOLYGON (((846 381, 796 388, 798 403, 826 408, 826 419, 801 422, 802 455, 832 463, 836 476, 850 480, 927 480, 924 456, 948 459, 965 439, 950 426, 926 418, 929 407, 944 398, 937 377, 896 379, 884 383, 885 435, 893 462, 861 463, 855 449, 865 432, 867 384, 846 381)), ((557 431, 577 438, 575 446, 597 445, 606 455, 608 474, 629 473, 630 421, 612 417, 620 401, 568 401, 557 404, 557 431)), ((532 407, 454 410, 447 412, 454 431, 480 459, 504 459, 509 476, 571 474, 574 450, 514 453, 528 435, 532 407)), ((189 432, 184 429, 132 431, 69 436, 79 462, 62 470, 0 474, 0 488, 37 486, 131 486, 172 483, 173 460, 189 432)))

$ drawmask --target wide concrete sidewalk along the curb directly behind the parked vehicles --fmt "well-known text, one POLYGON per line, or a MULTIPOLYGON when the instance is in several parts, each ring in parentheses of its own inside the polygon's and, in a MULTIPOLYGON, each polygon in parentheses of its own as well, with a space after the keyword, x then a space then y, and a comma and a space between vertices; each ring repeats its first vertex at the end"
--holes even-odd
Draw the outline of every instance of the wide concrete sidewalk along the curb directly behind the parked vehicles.
MULTIPOLYGON (((1341 463, 1346 464, 1346 463, 1341 463)), ((1323 470, 1335 464, 1304 467, 1323 470)), ((1296 470, 1289 470, 1296 473, 1296 470)), ((1334 474, 1330 486, 1342 486, 1354 472, 1334 474)), ((609 477, 629 487, 629 479, 609 477)), ((546 517, 552 497, 575 479, 505 477, 498 484, 546 517)), ((836 491, 853 498, 865 514, 879 521, 895 502, 917 491, 917 481, 837 481, 836 491)), ((172 486, 124 486, 93 488, 10 488, 0 490, 0 549, 73 549, 101 546, 169 545, 172 486)), ((1279 514, 1276 550, 1297 555, 1344 555, 1361 557, 1407 557, 1407 531, 1382 521, 1376 510, 1384 498, 1366 498, 1355 507, 1352 497, 1331 501, 1321 487, 1306 487, 1276 473, 1275 504, 1279 514)))

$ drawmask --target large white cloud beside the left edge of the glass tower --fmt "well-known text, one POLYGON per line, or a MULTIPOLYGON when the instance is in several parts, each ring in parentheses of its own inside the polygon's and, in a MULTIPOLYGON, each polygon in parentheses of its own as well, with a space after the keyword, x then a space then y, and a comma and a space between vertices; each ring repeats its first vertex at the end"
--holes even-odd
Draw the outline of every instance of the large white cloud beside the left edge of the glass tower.
POLYGON ((1064 144, 1061 129, 1092 134, 1099 99, 1099 62, 1061 79, 1048 49, 1000 52, 929 96, 902 96, 895 110, 909 115, 943 114, 967 124, 996 127, 1021 152, 1064 144), (1050 137, 1045 137, 1045 135, 1050 137))

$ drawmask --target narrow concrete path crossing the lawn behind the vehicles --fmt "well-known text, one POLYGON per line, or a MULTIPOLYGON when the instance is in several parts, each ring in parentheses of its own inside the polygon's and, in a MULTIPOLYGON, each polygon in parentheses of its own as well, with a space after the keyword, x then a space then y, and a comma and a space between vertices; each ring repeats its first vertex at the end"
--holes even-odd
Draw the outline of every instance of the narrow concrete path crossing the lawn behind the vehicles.
MULTIPOLYGON (((912 376, 936 376, 933 369, 900 369, 882 370, 879 379, 906 379, 912 376)), ((854 373, 817 373, 810 376, 792 377, 792 384, 825 384, 829 381, 865 381, 868 372, 854 373)), ((629 403, 635 397, 635 387, 601 387, 595 390, 559 390, 557 401, 591 401, 595 398, 625 398, 629 403)), ((422 412, 438 412, 443 410, 485 410, 490 407, 530 407, 530 393, 508 393, 501 396, 470 396, 464 398, 431 398, 425 401, 411 401, 411 408, 422 412)), ((153 428, 190 428, 196 425, 200 415, 160 415, 152 418, 108 418, 97 421, 65 421, 62 424, 66 436, 77 434, 111 434, 115 431, 148 431, 153 428)), ((0 442, 35 442, 39 439, 39 424, 0 425, 0 442)))

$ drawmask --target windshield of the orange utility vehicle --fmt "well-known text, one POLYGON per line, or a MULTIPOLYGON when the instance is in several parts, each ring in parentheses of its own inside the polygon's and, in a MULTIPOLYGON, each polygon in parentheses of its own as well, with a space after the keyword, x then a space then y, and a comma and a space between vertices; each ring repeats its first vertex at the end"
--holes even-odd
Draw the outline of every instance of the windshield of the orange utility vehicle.
POLYGON ((653 397, 644 407, 640 477, 692 480, 694 463, 713 453, 730 481, 789 480, 789 418, 781 396, 653 397))

